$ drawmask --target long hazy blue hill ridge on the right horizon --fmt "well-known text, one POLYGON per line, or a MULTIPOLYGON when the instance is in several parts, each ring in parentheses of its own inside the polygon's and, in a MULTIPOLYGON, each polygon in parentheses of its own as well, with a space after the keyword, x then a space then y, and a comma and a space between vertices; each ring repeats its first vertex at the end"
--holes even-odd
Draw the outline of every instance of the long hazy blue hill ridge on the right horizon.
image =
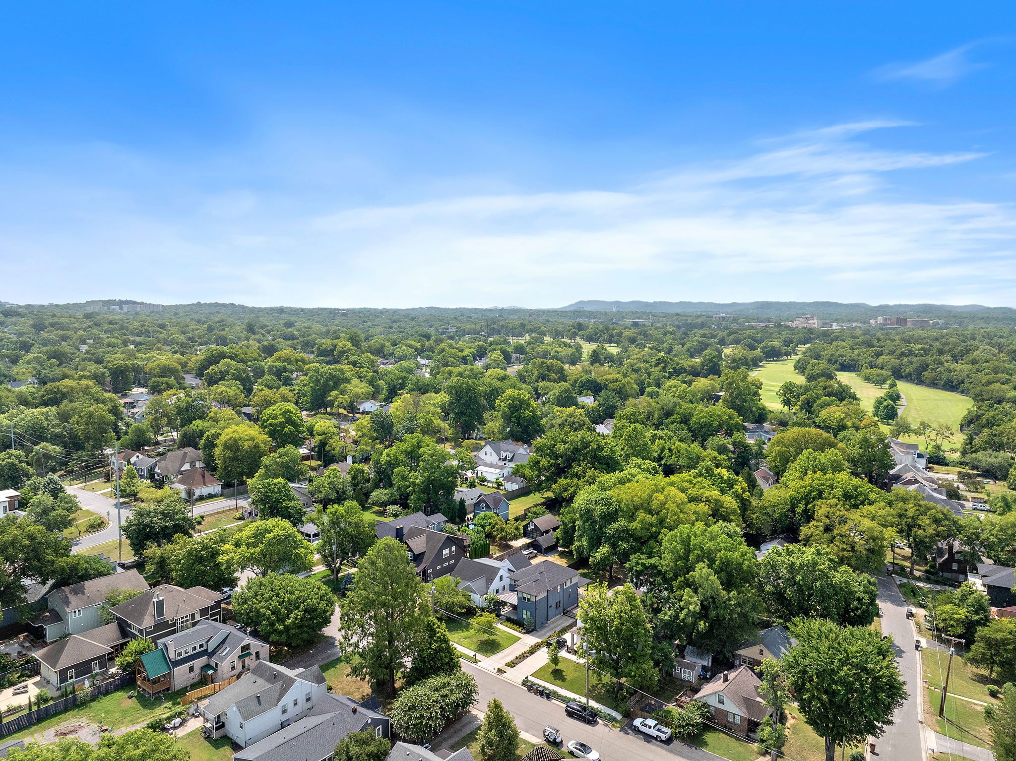
MULTIPOLYGON (((1016 310, 1009 307, 985 307, 979 304, 955 306, 951 304, 840 304, 833 301, 753 301, 719 304, 702 301, 577 301, 561 311, 611 312, 657 312, 670 314, 736 314, 760 317, 790 317, 800 314, 815 314, 826 319, 876 316, 889 314, 900 316, 946 317, 950 314, 973 312, 1002 313, 1012 316, 1016 310)), ((1000 315, 1001 316, 1001 315, 1000 315)))

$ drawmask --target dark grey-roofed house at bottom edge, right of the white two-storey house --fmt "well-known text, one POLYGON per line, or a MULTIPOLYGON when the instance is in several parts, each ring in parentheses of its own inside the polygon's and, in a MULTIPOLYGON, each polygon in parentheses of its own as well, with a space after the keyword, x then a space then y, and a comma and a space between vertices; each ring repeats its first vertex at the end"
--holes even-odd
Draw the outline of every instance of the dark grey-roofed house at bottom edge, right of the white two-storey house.
POLYGON ((388 738, 387 716, 345 695, 326 694, 310 712, 233 754, 233 761, 331 761, 338 742, 355 732, 388 738))

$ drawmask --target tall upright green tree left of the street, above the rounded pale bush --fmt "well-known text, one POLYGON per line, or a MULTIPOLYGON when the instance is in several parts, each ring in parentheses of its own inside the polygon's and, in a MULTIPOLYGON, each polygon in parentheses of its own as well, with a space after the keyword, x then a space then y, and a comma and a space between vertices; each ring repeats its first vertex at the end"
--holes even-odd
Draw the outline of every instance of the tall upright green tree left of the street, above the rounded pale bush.
POLYGON ((404 546, 391 537, 375 544, 357 568, 353 588, 340 604, 339 636, 347 649, 360 653, 354 675, 394 695, 405 653, 429 617, 423 583, 404 546))

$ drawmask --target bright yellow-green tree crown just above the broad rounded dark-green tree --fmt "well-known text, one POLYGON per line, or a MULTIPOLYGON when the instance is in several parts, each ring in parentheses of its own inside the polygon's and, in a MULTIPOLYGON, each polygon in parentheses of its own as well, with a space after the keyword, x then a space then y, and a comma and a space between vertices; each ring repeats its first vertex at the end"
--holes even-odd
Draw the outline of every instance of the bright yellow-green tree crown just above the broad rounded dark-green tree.
POLYGON ((314 567, 314 548, 282 518, 248 523, 223 547, 221 562, 236 572, 300 573, 314 567))

